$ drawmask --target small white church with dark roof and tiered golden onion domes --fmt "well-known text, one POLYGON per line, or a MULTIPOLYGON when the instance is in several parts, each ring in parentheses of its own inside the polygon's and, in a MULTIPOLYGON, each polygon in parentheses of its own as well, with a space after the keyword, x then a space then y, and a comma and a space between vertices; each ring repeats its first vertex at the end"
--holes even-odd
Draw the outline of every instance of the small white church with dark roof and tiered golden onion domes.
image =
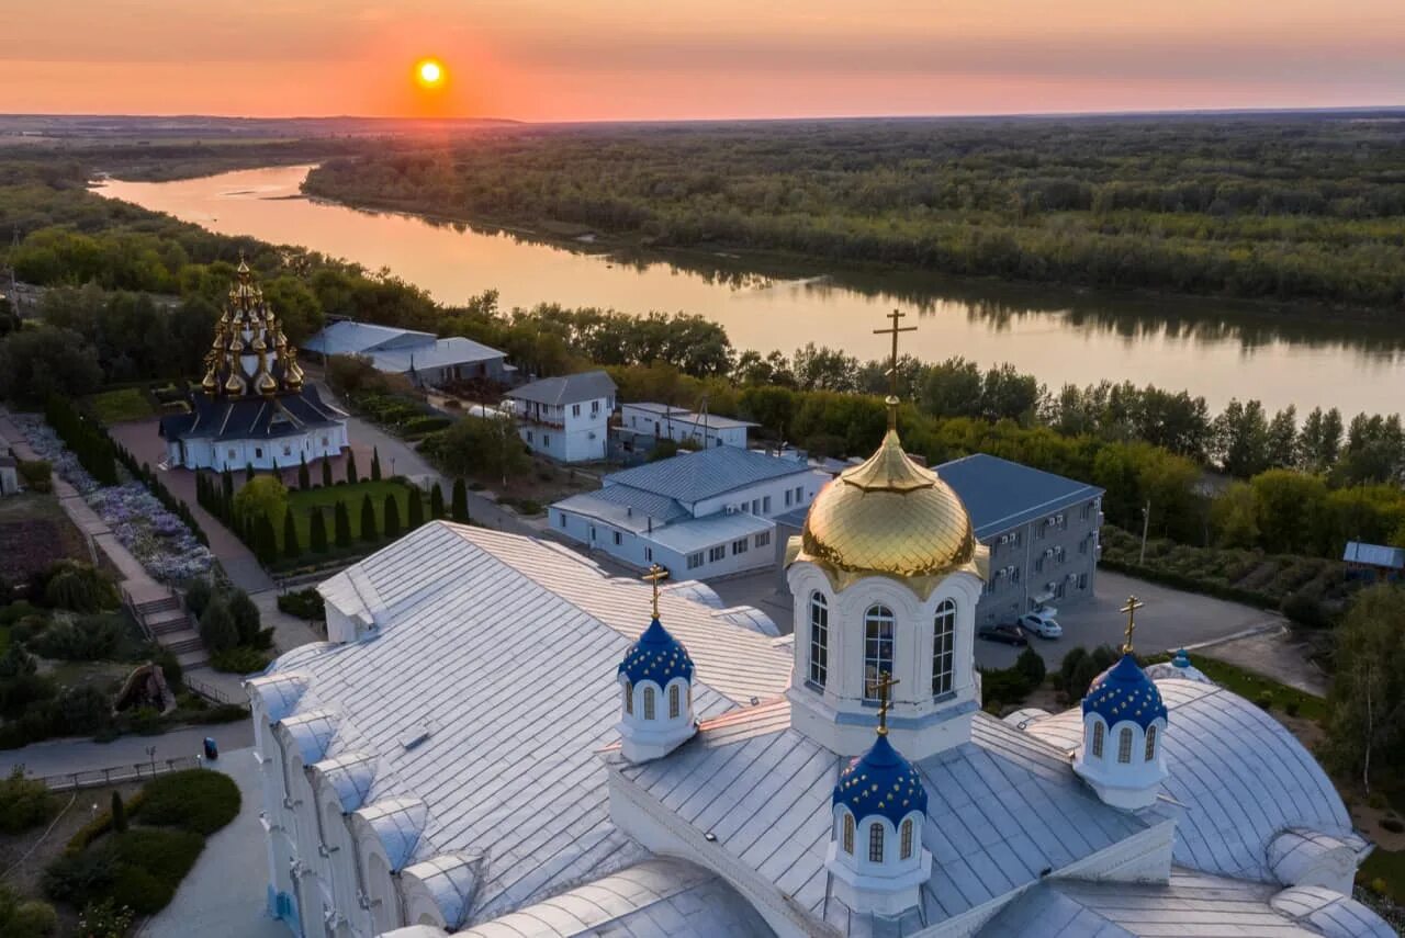
POLYGON ((348 445, 347 414, 306 383, 298 350, 243 260, 188 403, 188 413, 160 424, 173 468, 288 469, 348 445))

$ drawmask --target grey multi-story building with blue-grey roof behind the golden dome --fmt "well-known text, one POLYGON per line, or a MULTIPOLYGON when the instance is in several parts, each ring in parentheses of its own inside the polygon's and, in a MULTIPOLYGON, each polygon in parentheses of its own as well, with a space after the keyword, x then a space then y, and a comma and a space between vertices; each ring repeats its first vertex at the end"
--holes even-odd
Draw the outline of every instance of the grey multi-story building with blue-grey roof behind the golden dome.
MULTIPOLYGON (((944 462, 936 472, 965 504, 976 539, 991 549, 978 625, 1013 622, 1031 609, 1069 607, 1093 595, 1102 489, 984 452, 944 462)), ((784 545, 799 534, 805 511, 777 521, 784 545)))

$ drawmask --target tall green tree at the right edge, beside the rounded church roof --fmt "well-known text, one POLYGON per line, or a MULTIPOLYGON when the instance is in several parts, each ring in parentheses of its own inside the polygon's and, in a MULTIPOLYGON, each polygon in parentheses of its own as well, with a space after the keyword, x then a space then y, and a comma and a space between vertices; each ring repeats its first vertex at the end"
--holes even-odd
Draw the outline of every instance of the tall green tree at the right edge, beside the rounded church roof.
POLYGON ((1343 769, 1361 774, 1405 765, 1405 591, 1380 584, 1356 594, 1336 630, 1329 746, 1343 769))

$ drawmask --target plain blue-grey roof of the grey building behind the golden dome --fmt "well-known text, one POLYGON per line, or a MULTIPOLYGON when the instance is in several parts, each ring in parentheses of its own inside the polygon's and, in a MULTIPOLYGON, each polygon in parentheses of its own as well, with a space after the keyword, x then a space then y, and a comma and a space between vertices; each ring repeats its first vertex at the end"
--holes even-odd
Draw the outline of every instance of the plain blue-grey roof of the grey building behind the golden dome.
POLYGON ((965 503, 975 536, 988 538, 1103 494, 1097 486, 978 452, 936 466, 965 503))

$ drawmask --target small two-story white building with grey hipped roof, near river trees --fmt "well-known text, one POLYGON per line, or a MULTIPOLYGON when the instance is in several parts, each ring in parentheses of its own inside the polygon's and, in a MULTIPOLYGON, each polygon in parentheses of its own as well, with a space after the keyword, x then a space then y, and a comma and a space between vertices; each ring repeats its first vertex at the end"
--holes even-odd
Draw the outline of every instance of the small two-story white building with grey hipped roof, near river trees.
POLYGON ((615 385, 603 371, 544 378, 506 396, 517 414, 517 434, 534 452, 558 462, 606 458, 615 385))

